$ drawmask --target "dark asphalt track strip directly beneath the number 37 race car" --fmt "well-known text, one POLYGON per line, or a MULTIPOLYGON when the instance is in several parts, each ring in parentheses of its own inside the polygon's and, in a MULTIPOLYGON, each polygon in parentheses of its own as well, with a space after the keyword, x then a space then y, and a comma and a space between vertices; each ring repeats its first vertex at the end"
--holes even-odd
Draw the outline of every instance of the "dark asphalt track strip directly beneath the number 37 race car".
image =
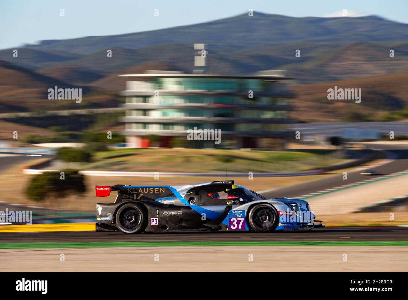
POLYGON ((408 227, 333 227, 253 232, 141 233, 65 231, 0 233, 0 242, 407 241, 408 227))

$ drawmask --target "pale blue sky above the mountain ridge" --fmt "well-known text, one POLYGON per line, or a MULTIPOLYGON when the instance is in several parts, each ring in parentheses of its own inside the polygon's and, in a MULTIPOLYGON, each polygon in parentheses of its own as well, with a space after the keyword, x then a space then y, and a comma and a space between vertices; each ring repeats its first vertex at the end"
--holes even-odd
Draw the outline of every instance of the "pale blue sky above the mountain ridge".
POLYGON ((408 23, 408 0, 0 0, 0 7, 0 49, 195 24, 248 9, 293 17, 337 16, 347 9, 352 16, 378 15, 408 23), (64 17, 60 9, 65 9, 64 17))

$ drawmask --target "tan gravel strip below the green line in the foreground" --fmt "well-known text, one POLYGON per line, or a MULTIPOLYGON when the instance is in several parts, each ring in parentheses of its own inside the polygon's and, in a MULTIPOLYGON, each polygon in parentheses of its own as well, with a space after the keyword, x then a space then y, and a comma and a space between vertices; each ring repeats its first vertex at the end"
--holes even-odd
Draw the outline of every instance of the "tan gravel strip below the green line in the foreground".
POLYGON ((109 271, 402 272, 408 269, 408 247, 0 249, 0 264, 3 272, 106 272, 107 268, 109 271))

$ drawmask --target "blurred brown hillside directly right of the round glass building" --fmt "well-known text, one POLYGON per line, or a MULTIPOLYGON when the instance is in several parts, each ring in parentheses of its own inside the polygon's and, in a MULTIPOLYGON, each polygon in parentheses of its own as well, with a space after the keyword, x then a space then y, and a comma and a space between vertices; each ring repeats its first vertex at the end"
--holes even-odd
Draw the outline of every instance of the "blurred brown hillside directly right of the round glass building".
POLYGON ((384 76, 293 86, 293 118, 304 122, 398 121, 408 117, 408 70, 384 76), (361 103, 328 100, 327 89, 361 88, 361 103))

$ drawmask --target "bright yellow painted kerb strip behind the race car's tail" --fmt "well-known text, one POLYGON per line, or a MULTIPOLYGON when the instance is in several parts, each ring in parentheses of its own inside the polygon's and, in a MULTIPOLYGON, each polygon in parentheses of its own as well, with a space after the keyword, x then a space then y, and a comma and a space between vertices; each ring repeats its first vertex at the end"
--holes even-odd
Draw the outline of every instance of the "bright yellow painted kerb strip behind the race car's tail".
POLYGON ((95 231, 95 223, 2 225, 0 232, 95 231))

